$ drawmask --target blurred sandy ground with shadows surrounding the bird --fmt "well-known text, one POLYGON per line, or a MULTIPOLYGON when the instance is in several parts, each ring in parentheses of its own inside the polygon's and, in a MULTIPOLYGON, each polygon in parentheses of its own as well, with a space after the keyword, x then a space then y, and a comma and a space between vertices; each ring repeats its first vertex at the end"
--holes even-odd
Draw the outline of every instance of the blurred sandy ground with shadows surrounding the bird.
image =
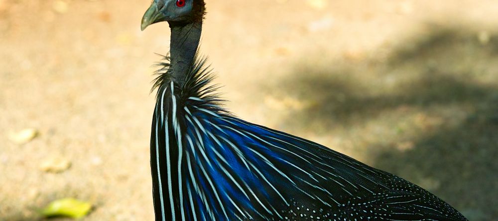
MULTIPOLYGON (((206 0, 227 108, 498 219, 497 0, 206 0), (495 206, 493 206, 495 205, 495 206)), ((0 0, 0 221, 153 220, 150 0, 0 0), (64 219, 60 219, 64 220, 64 219)))

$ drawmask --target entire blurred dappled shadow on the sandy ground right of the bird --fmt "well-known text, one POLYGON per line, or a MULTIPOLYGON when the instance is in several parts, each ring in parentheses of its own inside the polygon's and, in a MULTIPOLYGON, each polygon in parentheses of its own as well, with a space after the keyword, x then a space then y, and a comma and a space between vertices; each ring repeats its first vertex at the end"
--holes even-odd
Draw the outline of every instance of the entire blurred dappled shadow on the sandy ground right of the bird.
POLYGON ((290 78, 264 89, 303 103, 290 108, 288 130, 350 140, 372 166, 428 189, 470 220, 492 220, 498 40, 431 30, 381 61, 373 53, 361 61, 298 65, 290 78))

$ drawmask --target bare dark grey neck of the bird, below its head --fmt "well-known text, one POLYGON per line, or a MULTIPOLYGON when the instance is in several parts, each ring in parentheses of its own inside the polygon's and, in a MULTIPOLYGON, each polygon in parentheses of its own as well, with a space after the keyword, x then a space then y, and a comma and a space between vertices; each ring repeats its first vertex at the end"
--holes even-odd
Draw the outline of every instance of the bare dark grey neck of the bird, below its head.
POLYGON ((189 68, 194 63, 202 32, 202 20, 191 23, 170 22, 172 80, 182 85, 189 68))

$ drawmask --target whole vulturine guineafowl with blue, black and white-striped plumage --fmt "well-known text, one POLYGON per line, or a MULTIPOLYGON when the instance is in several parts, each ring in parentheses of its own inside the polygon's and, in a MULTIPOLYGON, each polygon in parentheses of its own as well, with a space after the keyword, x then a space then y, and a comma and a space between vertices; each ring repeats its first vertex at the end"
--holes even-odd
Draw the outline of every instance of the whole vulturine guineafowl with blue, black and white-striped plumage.
POLYGON ((198 48, 204 0, 153 0, 170 51, 152 90, 150 167, 156 221, 467 221, 398 176, 224 108, 198 48))

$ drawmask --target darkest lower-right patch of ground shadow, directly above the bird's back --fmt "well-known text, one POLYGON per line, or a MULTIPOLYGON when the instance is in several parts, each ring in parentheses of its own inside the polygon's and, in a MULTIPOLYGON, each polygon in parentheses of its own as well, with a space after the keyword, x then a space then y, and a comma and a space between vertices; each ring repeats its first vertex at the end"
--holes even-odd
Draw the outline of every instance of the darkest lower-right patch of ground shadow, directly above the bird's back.
MULTIPOLYGON (((459 208, 470 220, 498 213, 498 98, 474 103, 458 126, 442 126, 407 151, 381 151, 373 166, 415 182, 459 208)), ((388 149, 385 147, 372 147, 388 149)))

